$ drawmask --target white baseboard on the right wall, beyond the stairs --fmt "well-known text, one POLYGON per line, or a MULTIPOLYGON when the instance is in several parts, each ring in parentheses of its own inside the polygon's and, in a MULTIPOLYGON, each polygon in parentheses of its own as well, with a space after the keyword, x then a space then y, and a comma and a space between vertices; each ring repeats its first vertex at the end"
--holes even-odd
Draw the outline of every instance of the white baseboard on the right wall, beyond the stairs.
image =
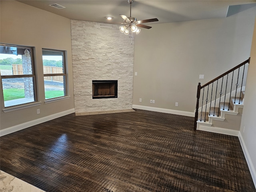
POLYGON ((240 144, 242 146, 242 150, 244 152, 244 156, 245 156, 246 162, 248 164, 248 167, 249 167, 249 170, 250 170, 250 173, 251 173, 251 176, 252 176, 252 180, 254 182, 254 186, 256 188, 256 170, 255 170, 255 168, 252 164, 252 159, 250 158, 250 154, 249 154, 249 152, 246 148, 246 145, 244 143, 244 139, 243 139, 243 136, 242 136, 241 132, 239 132, 238 138, 239 138, 240 144))

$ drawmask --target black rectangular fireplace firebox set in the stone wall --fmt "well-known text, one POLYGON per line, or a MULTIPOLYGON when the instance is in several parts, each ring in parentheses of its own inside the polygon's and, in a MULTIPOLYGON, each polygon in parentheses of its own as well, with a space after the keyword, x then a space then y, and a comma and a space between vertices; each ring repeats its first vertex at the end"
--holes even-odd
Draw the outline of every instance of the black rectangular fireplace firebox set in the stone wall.
POLYGON ((92 98, 117 98, 117 80, 92 80, 92 98))

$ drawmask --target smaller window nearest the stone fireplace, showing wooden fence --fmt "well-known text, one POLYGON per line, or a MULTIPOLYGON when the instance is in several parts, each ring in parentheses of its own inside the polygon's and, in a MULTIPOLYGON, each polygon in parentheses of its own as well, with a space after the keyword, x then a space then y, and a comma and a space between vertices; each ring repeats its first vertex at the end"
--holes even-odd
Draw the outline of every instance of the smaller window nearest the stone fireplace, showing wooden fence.
POLYGON ((66 96, 65 51, 42 50, 45 99, 66 96))

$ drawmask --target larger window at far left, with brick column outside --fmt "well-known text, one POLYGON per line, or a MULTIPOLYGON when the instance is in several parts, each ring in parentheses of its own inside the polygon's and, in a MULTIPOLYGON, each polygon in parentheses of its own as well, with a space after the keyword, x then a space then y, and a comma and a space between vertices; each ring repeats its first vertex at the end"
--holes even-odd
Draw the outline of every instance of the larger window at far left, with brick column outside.
POLYGON ((0 44, 0 74, 4 107, 36 101, 32 47, 0 44))

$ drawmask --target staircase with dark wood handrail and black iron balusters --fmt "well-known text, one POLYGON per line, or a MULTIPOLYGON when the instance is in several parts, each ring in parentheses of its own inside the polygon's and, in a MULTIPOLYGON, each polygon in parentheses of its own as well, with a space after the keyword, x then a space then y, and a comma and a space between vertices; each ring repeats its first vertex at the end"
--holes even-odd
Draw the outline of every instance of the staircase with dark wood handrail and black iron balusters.
POLYGON ((194 130, 238 136, 249 62, 250 58, 203 86, 198 83, 194 130))

